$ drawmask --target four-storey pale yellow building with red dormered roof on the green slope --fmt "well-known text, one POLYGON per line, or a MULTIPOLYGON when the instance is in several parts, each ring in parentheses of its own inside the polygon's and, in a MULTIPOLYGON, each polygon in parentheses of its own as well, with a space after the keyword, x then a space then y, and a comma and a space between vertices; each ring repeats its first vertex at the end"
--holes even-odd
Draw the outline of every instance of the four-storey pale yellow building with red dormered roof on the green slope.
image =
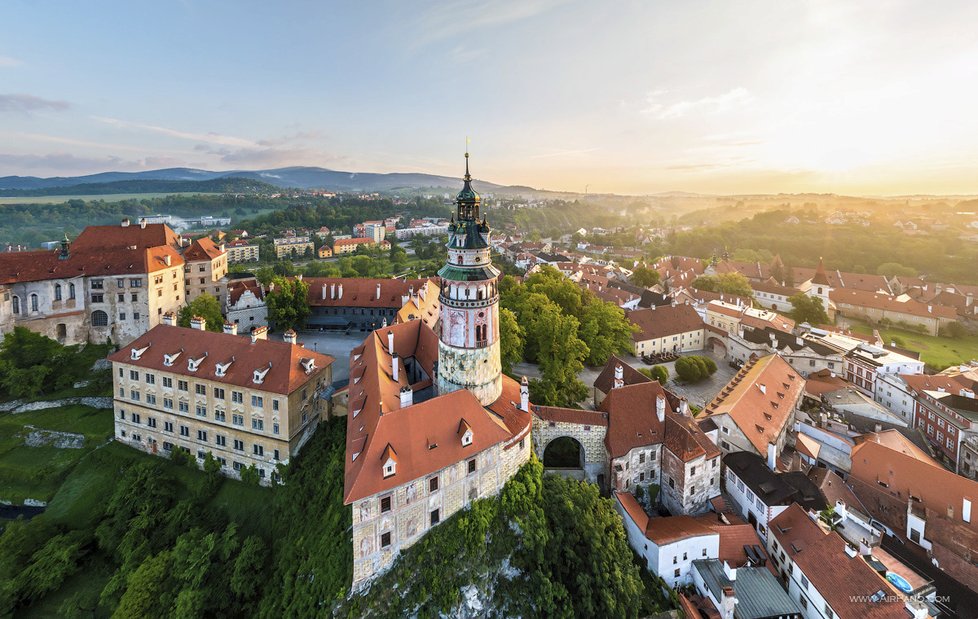
POLYGON ((275 342, 266 327, 249 339, 233 324, 214 333, 201 318, 191 328, 174 320, 109 356, 116 440, 152 454, 183 449, 198 464, 209 452, 225 475, 254 466, 263 483, 276 480, 318 425, 333 358, 294 331, 275 342))

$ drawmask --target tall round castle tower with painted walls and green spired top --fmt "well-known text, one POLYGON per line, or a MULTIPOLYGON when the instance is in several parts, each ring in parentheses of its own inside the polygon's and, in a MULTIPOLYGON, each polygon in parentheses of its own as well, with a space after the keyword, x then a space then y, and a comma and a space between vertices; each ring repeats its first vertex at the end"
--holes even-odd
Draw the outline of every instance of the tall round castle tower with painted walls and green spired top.
POLYGON ((438 342, 439 393, 468 389, 484 406, 502 393, 499 360, 499 270, 489 255, 489 224, 479 221, 481 198, 472 189, 469 154, 465 184, 448 226, 448 262, 441 279, 438 342))

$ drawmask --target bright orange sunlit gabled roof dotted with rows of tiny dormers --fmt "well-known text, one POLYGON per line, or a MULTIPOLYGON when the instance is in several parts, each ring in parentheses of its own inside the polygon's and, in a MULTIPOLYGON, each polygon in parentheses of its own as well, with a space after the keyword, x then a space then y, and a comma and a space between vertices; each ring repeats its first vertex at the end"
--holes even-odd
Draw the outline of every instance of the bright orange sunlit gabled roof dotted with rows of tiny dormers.
POLYGON ((805 379, 787 361, 768 355, 741 368, 703 410, 710 416, 730 415, 757 452, 766 454, 804 389, 805 379))

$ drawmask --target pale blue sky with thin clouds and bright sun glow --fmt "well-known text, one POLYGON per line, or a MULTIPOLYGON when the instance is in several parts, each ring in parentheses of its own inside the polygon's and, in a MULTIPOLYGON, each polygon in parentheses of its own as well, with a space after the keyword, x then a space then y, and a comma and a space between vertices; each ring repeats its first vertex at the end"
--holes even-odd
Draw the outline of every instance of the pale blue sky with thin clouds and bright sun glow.
POLYGON ((0 176, 978 193, 978 3, 3 0, 0 176))

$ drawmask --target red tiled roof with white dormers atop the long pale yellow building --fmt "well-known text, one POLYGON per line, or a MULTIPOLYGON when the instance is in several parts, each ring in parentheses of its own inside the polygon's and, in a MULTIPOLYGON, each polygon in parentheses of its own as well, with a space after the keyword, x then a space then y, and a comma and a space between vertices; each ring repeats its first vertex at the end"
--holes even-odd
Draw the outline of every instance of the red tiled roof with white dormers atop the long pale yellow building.
POLYGON ((305 363, 313 361, 315 369, 333 363, 329 355, 315 353, 305 348, 277 342, 201 331, 186 327, 157 325, 128 346, 109 355, 109 361, 126 363, 159 372, 172 372, 182 376, 205 378, 226 385, 245 389, 270 391, 288 395, 312 380, 317 372, 306 373, 305 363), (131 351, 143 350, 138 359, 131 351), (172 365, 166 364, 167 355, 176 355, 172 365), (196 371, 189 368, 189 360, 201 360, 196 371), (218 364, 230 363, 223 376, 217 375, 218 364), (255 371, 266 371, 261 383, 255 383, 255 371))

